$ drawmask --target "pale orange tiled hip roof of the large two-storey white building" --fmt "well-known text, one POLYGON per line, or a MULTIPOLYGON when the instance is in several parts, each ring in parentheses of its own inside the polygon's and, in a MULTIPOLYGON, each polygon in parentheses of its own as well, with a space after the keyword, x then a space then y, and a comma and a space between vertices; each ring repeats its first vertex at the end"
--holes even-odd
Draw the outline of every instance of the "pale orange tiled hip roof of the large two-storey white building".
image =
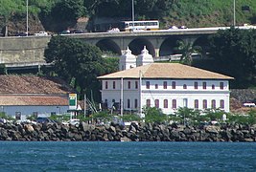
POLYGON ((113 78, 176 78, 176 79, 234 79, 228 75, 221 75, 195 67, 178 63, 151 63, 149 65, 128 69, 99 76, 99 79, 113 78))

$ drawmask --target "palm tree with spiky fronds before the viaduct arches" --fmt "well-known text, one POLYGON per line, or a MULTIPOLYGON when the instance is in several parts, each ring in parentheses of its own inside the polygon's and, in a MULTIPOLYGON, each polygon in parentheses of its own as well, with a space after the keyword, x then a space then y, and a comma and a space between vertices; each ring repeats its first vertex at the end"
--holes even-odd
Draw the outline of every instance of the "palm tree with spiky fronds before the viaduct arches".
POLYGON ((201 54, 201 47, 193 46, 192 42, 183 42, 181 40, 177 41, 177 50, 181 53, 179 62, 187 65, 192 64, 192 54, 201 54))

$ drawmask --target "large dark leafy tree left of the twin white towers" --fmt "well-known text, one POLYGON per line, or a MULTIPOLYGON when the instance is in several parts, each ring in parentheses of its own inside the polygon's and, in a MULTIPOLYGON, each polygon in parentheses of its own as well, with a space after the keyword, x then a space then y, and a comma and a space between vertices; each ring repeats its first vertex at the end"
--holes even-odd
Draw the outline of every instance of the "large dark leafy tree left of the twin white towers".
POLYGON ((99 48, 83 43, 79 39, 54 36, 44 52, 47 63, 53 63, 55 73, 71 83, 74 81, 81 95, 94 93, 100 100, 101 84, 98 75, 105 74, 105 60, 99 48))

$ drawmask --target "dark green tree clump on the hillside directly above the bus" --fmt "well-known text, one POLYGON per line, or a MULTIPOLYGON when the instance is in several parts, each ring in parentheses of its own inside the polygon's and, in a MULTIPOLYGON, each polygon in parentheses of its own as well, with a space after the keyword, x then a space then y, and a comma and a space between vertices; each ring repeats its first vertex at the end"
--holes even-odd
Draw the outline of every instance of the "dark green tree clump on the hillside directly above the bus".
MULTIPOLYGON (((171 9, 174 3, 175 0, 134 0, 136 18, 161 18, 171 9)), ((131 1, 85 0, 84 5, 92 15, 129 17, 131 19, 131 1)))

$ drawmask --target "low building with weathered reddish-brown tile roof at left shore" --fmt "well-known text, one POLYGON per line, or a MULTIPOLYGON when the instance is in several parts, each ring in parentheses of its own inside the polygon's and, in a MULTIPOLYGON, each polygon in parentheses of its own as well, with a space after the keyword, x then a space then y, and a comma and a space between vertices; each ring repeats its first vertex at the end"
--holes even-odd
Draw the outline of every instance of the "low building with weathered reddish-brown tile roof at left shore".
POLYGON ((0 112, 16 119, 64 114, 70 93, 73 89, 55 77, 0 75, 0 112))

